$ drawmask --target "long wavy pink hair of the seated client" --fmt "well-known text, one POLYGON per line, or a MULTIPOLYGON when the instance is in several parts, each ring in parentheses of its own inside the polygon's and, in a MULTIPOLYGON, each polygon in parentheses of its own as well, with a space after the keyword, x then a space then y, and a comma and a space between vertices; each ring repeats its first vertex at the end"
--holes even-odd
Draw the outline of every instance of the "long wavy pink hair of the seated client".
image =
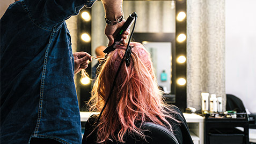
MULTIPOLYGON (((125 134, 134 133, 145 139, 140 126, 145 121, 164 125, 172 130, 167 118, 177 113, 164 103, 158 89, 150 54, 141 43, 132 42, 130 65, 123 62, 116 84, 97 127, 97 142, 125 142, 125 134)), ((126 45, 116 46, 100 70, 89 100, 92 111, 101 111, 111 91, 116 71, 125 54, 126 45)), ((177 121, 179 122, 179 121, 177 121)))

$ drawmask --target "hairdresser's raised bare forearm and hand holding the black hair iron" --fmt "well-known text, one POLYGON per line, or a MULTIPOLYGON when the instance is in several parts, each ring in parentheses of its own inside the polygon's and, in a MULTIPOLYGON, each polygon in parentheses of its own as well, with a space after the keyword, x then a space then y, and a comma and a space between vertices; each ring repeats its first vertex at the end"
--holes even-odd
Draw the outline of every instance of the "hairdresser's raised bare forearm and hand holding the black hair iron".
MULTIPOLYGON (((114 21, 123 15, 122 0, 102 0, 102 2, 105 8, 105 17, 108 20, 114 21)), ((115 31, 121 28, 123 23, 125 23, 125 20, 116 25, 106 25, 105 34, 109 39, 108 45, 112 45, 114 43, 114 36, 116 35, 115 31)), ((129 30, 123 33, 122 38, 126 39, 128 37, 127 35, 129 35, 129 30)), ((122 41, 122 43, 125 43, 125 41, 122 41)))

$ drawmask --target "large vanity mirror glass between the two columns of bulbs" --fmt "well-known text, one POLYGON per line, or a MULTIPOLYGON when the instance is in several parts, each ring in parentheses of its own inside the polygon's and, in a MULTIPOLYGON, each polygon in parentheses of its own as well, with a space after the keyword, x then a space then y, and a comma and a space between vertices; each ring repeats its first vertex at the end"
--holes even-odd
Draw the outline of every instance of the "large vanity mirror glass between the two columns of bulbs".
MULTIPOLYGON (((175 102, 175 89, 174 89, 174 60, 175 60, 175 1, 123 1, 124 17, 127 18, 129 14, 136 12, 138 14, 134 41, 143 42, 148 41, 145 44, 151 51, 153 59, 153 65, 156 69, 156 75, 158 77, 158 84, 163 87, 166 92, 164 95, 167 98, 167 102, 175 102), (154 45, 154 46, 152 46, 154 45), (164 45, 165 48, 162 48, 164 45), (164 50, 166 49, 166 50, 164 50), (157 56, 155 51, 163 51, 164 57, 157 56), (164 59, 163 59, 164 58, 164 59), (159 63, 155 63, 159 61, 159 63), (163 66, 161 61, 166 61, 166 66, 163 66), (162 67, 162 68, 161 68, 162 67), (164 68, 166 67, 166 68, 164 68), (165 73, 163 73, 165 70, 165 73), (162 80, 160 75, 162 74, 162 80), (164 78, 166 76, 167 78, 164 78)), ((91 55, 96 56, 95 49, 100 45, 107 45, 108 39, 104 34, 105 29, 105 13, 103 4, 98 1, 94 3, 91 8, 91 55)), ((85 28, 86 29, 86 28, 85 28)), ((79 31, 79 28, 78 28, 79 31)), ((159 54, 161 55, 161 54, 159 54)), ((92 60, 91 66, 97 64, 97 60, 92 60)), ((91 68, 87 68, 87 72, 91 71, 91 68)), ((89 73, 90 74, 90 73, 89 73)), ((79 85, 78 85, 79 86, 79 85)), ((80 85, 81 86, 81 85, 80 85)), ((82 89, 78 92, 81 96, 80 106, 84 102, 89 100, 90 91, 85 89, 85 86, 81 86, 82 89)))

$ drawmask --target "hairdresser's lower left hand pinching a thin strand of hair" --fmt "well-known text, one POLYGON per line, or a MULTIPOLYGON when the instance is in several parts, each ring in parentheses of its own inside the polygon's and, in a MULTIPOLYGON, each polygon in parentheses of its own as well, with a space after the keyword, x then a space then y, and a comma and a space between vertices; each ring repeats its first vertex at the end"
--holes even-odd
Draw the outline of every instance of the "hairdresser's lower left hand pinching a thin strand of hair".
POLYGON ((79 73, 81 69, 86 69, 89 61, 92 61, 91 55, 87 52, 75 52, 73 55, 75 61, 75 74, 79 73))

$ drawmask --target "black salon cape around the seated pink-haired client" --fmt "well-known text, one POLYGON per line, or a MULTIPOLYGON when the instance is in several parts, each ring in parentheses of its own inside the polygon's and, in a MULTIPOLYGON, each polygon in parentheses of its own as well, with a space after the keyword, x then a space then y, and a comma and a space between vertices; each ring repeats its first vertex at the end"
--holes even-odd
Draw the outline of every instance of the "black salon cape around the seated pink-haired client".
MULTIPOLYGON (((181 110, 176 106, 171 106, 171 107, 179 113, 179 114, 171 114, 171 115, 173 115, 176 119, 178 119, 178 121, 181 122, 179 124, 172 119, 168 119, 168 121, 172 125, 173 133, 174 133, 175 137, 177 138, 179 144, 193 143, 191 135, 189 134, 186 119, 184 118, 181 110)), ((96 143, 97 131, 94 131, 92 134, 91 134, 91 132, 95 128, 95 123, 97 122, 98 116, 99 115, 92 115, 86 122, 82 144, 96 143), (88 135, 89 135, 89 137, 87 137, 88 135)), ((111 143, 111 142, 109 142, 109 143, 111 143)))

